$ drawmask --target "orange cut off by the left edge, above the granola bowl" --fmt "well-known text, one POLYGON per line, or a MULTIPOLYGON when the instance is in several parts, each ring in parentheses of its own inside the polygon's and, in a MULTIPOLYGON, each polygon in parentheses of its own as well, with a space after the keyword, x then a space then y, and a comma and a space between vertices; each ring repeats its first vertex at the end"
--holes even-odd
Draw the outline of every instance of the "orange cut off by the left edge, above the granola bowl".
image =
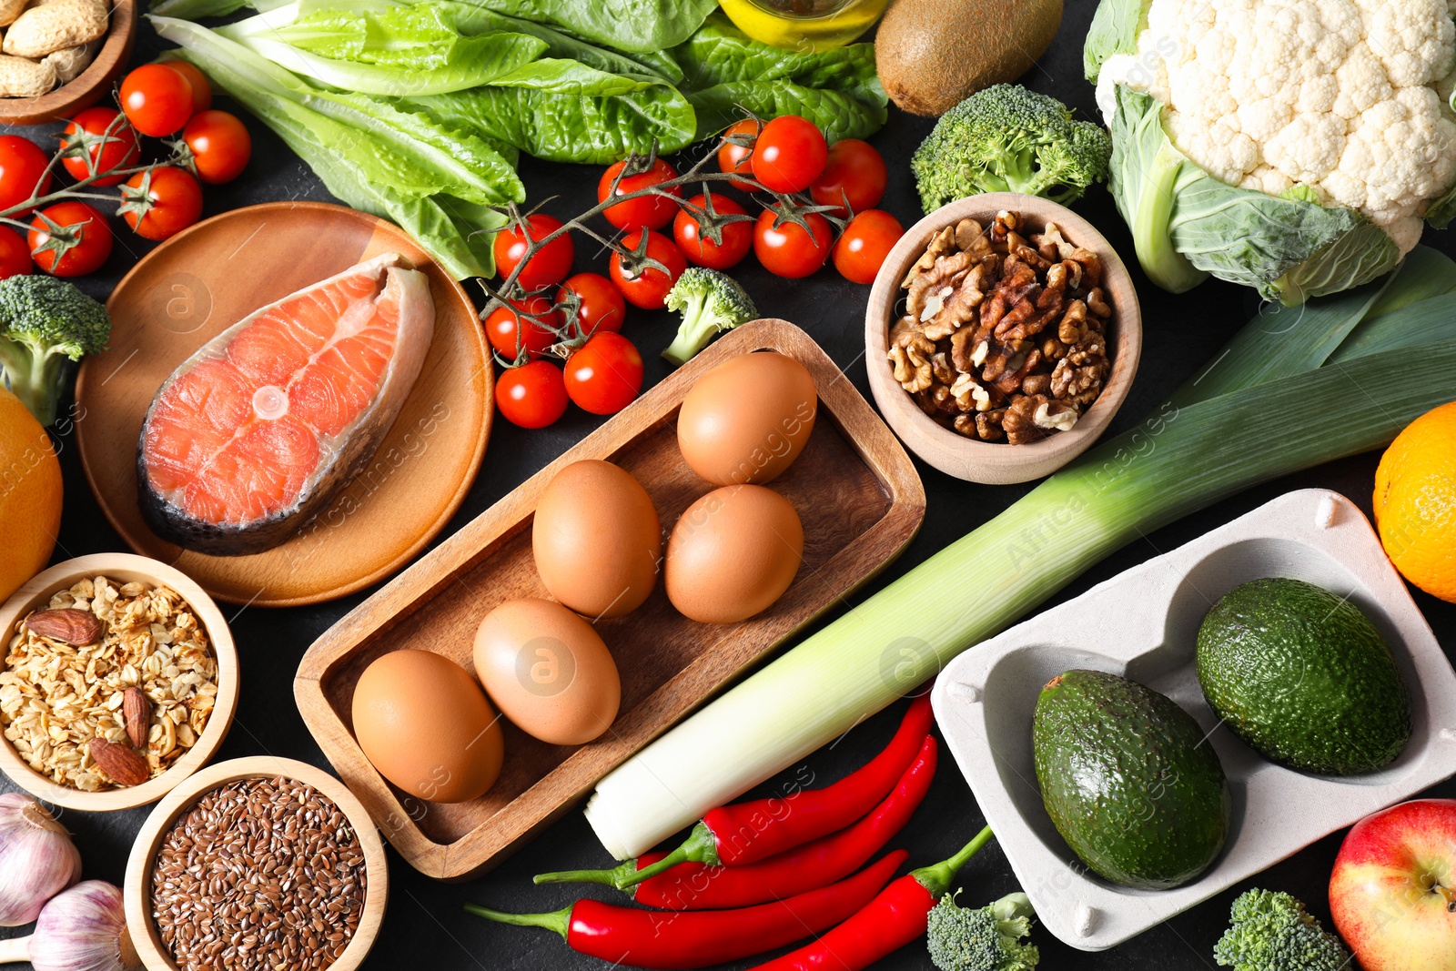
POLYGON ((61 528, 61 463, 51 437, 0 387, 0 600, 41 572, 61 528))

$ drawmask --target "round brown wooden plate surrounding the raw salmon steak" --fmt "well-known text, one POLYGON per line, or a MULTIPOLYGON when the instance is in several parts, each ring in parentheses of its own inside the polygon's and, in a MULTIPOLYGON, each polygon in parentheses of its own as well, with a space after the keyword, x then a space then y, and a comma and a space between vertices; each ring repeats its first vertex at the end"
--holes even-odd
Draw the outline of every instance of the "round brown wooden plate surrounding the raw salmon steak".
POLYGON ((291 607, 354 592, 408 563, 464 499, 491 434, 485 332, 459 282, 392 223, 325 202, 268 202, 198 223, 144 256, 106 303, 111 349, 76 379, 76 445, 92 492, 138 553, 234 604, 291 607), (435 339, 370 466, 293 539, 208 556, 159 539, 137 505, 137 441, 157 389, 258 307, 397 252, 430 275, 435 339))

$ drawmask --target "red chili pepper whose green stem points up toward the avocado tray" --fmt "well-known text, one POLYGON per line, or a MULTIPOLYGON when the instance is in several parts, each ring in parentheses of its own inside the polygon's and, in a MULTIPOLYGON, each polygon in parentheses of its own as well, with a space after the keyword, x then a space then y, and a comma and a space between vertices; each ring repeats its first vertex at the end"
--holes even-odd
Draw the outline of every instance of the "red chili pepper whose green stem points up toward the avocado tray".
POLYGON ((906 873, 885 887, 858 914, 828 933, 754 967, 751 971, 862 971, 887 954, 925 935, 930 908, 949 889, 951 881, 990 843, 986 827, 960 853, 933 866, 906 873))

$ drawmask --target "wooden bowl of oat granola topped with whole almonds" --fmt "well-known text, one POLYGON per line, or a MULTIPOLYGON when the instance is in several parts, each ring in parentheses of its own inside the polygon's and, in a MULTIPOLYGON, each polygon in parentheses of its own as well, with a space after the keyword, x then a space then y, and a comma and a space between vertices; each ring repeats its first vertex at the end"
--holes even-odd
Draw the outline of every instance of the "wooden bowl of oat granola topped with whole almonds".
POLYGON ((156 802, 217 753, 237 651, 213 598, 131 553, 57 563, 0 606, 0 772, 47 802, 156 802))

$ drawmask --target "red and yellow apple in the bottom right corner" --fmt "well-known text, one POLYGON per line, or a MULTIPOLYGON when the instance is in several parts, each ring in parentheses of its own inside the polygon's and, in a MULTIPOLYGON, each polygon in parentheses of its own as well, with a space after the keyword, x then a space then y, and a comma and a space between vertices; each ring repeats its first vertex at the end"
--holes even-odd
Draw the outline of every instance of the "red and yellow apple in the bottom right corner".
POLYGON ((1366 971, 1456 971, 1456 799, 1356 823, 1329 878, 1335 929, 1366 971))

